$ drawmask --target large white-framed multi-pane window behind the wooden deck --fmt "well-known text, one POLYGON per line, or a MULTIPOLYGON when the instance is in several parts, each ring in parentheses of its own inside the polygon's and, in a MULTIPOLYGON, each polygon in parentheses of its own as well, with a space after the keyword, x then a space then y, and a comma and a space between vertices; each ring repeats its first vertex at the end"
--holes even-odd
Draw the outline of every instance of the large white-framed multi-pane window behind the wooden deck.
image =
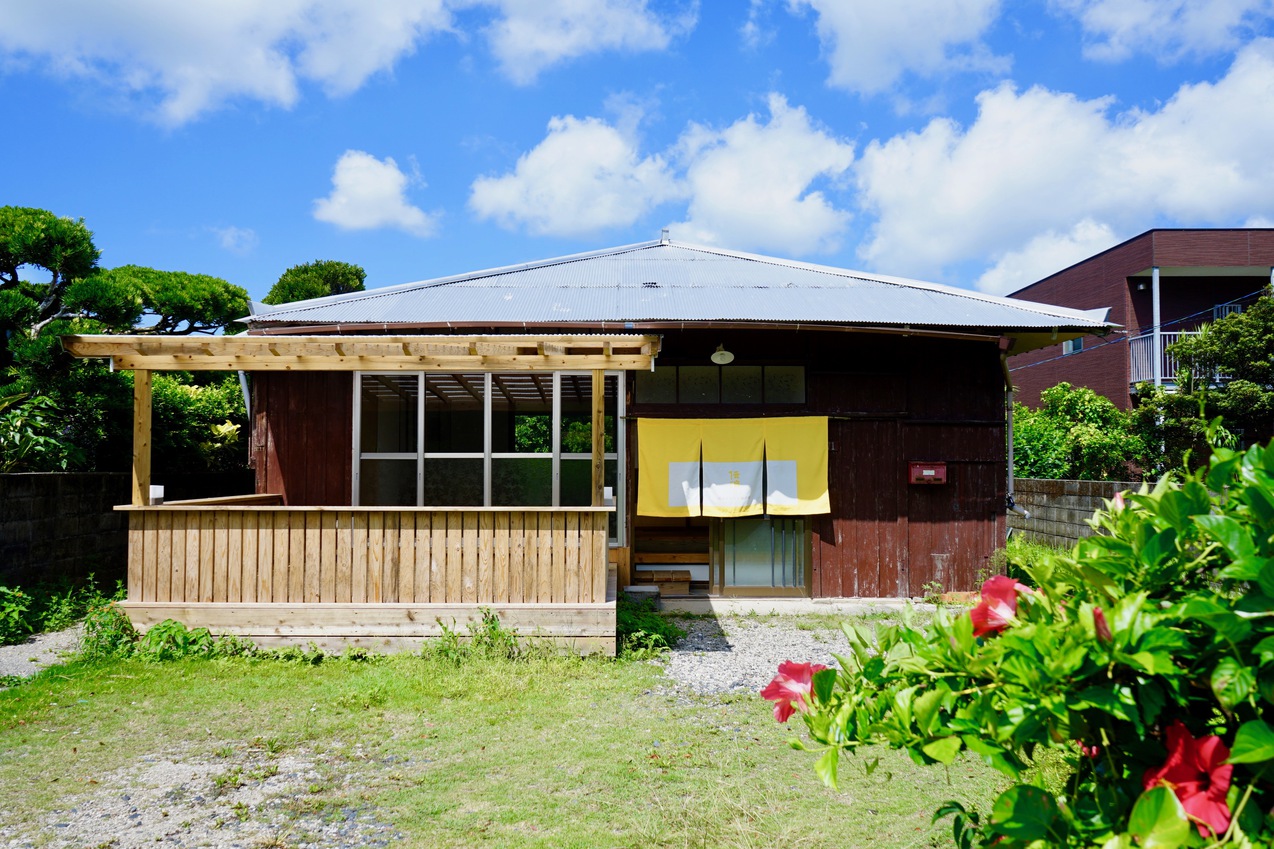
MULTIPOLYGON (((624 506, 623 375, 605 377, 605 486, 624 506)), ((363 506, 592 502, 591 372, 361 372, 354 492, 363 506)))

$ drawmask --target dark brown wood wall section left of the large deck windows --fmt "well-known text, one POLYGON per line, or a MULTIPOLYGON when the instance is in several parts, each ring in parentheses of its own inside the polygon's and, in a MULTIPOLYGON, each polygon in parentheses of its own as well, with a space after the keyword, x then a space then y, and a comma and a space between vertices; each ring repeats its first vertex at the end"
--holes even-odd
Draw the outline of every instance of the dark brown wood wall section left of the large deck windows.
POLYGON ((353 377, 255 372, 251 380, 256 491, 288 505, 349 505, 353 377))

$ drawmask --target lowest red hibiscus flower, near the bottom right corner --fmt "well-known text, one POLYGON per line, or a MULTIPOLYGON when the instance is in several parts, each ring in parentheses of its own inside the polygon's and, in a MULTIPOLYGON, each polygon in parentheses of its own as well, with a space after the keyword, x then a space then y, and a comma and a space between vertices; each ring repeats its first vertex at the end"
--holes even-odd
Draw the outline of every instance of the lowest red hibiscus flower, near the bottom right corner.
POLYGON ((1229 748, 1217 736, 1194 736, 1176 720, 1168 727, 1168 760, 1158 769, 1147 770, 1142 784, 1147 790, 1161 784, 1171 788, 1186 809, 1186 816, 1204 838, 1208 831, 1224 834, 1229 827, 1229 776, 1235 767, 1226 764, 1229 748))

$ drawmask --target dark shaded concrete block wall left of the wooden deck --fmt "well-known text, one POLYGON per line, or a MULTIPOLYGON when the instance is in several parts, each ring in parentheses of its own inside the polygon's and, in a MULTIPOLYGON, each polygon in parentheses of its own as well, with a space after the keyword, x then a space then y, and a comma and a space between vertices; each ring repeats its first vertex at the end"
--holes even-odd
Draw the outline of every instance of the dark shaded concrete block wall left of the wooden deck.
POLYGON ((0 474, 0 584, 124 577, 129 521, 113 507, 130 487, 120 473, 0 474))

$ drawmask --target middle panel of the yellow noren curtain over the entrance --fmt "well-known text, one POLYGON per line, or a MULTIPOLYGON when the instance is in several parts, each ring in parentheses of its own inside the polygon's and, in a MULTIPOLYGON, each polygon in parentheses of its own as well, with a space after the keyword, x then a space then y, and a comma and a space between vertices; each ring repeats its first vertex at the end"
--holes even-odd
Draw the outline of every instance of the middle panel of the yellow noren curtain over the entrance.
POLYGON ((754 418, 703 421, 703 515, 758 516, 766 432, 754 418))

